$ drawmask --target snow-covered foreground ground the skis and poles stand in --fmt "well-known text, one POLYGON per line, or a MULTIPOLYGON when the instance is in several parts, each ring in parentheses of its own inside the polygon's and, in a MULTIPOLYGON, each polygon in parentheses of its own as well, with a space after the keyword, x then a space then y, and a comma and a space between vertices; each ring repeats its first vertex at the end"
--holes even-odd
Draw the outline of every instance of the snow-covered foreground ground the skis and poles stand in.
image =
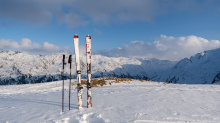
MULTIPOLYGON (((75 81, 75 80, 73 80, 75 81)), ((93 107, 78 110, 76 86, 68 110, 65 81, 65 111, 61 112, 62 81, 0 86, 1 123, 201 123, 220 122, 220 85, 126 83, 92 88, 93 107), (56 86, 57 83, 57 86, 56 86)))

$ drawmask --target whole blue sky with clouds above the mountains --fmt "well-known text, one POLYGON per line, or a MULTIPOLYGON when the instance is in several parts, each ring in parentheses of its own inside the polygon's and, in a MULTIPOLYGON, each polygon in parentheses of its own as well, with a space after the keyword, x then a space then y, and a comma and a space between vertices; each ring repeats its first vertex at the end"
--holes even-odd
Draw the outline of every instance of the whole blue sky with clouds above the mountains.
POLYGON ((177 61, 220 48, 219 0, 0 0, 0 50, 177 61))

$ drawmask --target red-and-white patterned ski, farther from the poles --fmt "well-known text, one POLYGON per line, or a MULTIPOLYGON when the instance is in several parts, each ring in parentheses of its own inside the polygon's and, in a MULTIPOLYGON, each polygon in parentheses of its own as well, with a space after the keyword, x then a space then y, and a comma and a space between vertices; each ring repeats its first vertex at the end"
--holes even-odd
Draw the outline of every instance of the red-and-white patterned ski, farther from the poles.
POLYGON ((86 60, 87 60, 87 108, 92 108, 91 88, 91 36, 86 36, 86 60))

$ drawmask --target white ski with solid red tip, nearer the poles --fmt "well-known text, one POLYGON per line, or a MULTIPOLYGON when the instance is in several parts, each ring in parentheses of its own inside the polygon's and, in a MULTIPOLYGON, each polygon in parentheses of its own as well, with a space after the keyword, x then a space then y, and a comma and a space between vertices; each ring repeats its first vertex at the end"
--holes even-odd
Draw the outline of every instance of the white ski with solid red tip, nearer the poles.
POLYGON ((83 103, 82 103, 83 87, 81 85, 81 70, 80 70, 80 61, 79 61, 79 38, 78 38, 78 35, 74 35, 73 42, 74 42, 75 57, 76 57, 78 108, 81 109, 83 107, 83 103))

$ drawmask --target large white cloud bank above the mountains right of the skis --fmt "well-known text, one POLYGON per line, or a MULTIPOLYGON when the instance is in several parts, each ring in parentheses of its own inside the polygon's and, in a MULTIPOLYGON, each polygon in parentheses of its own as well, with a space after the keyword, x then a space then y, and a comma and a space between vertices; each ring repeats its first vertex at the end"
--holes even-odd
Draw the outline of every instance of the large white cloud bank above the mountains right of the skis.
POLYGON ((96 54, 112 57, 146 57, 163 60, 178 61, 205 50, 220 48, 219 40, 197 37, 167 37, 161 35, 154 42, 132 41, 110 51, 100 50, 96 54))

